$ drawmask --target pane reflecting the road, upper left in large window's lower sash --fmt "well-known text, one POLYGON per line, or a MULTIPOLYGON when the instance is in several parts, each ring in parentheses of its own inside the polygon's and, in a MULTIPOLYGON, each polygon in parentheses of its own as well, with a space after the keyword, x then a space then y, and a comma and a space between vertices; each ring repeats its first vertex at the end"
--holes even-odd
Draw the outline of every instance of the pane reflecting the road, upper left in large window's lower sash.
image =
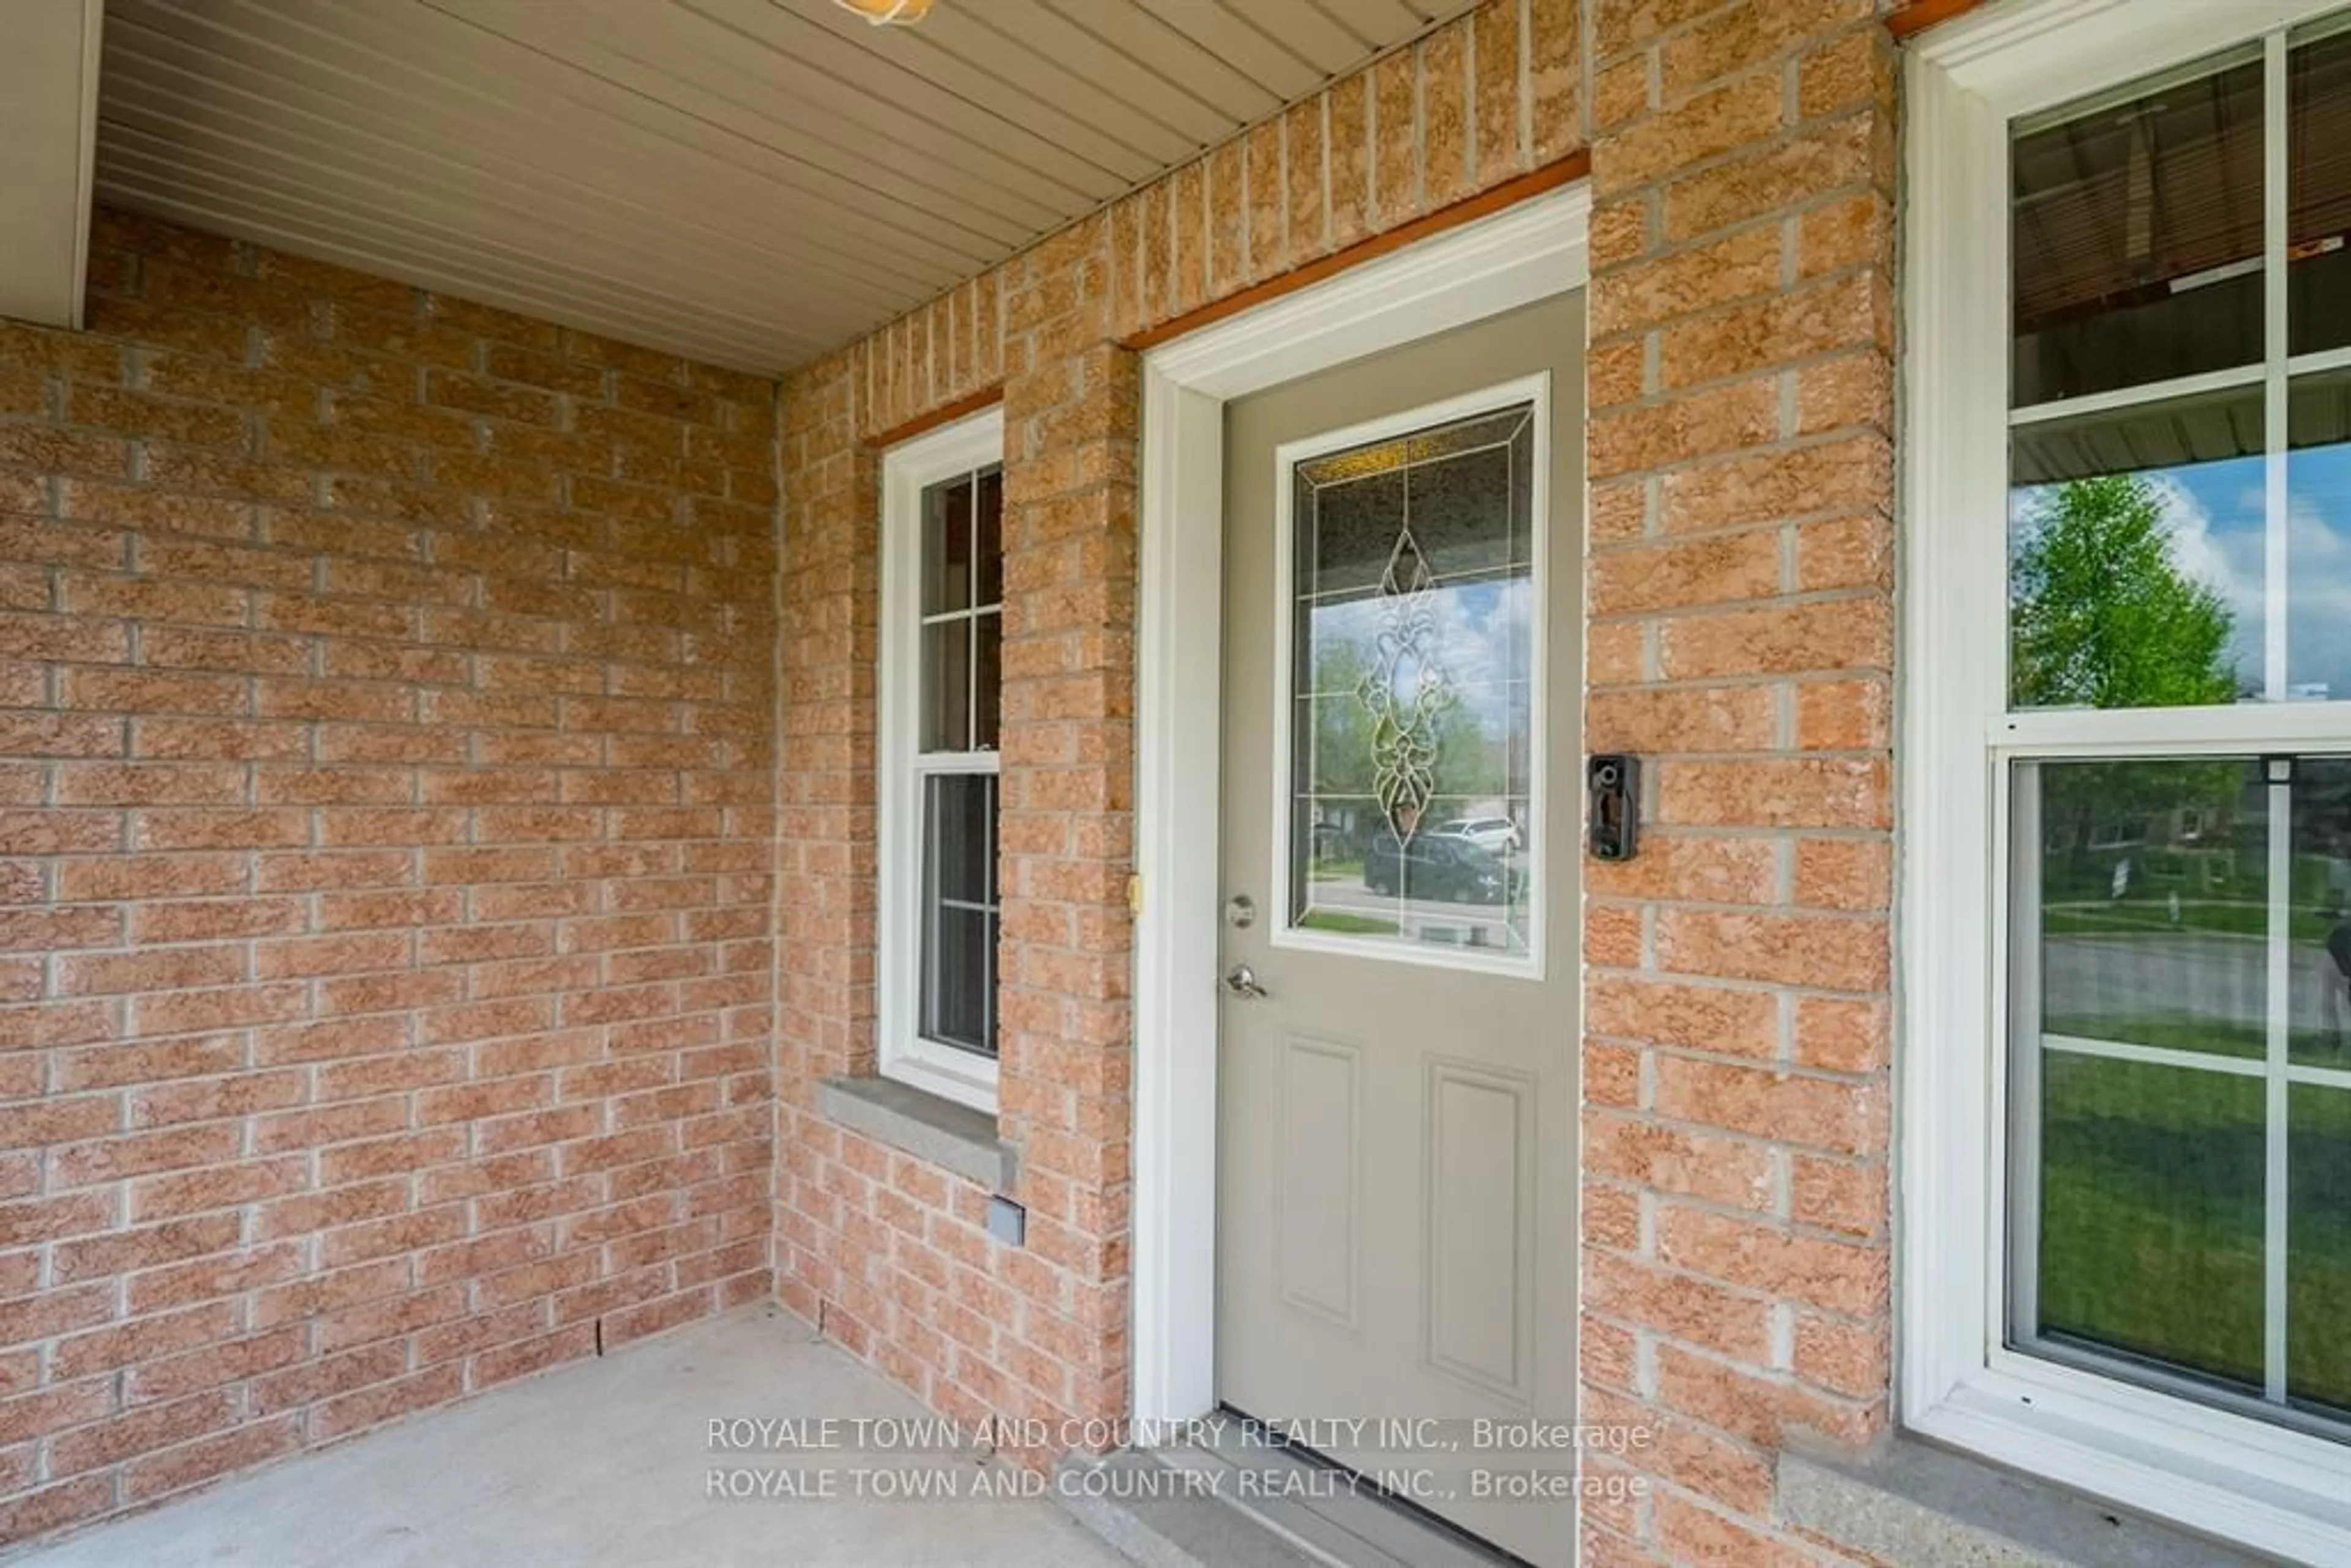
POLYGON ((2259 1058, 2269 788, 2259 764, 2045 762, 2041 1030, 2259 1058))

